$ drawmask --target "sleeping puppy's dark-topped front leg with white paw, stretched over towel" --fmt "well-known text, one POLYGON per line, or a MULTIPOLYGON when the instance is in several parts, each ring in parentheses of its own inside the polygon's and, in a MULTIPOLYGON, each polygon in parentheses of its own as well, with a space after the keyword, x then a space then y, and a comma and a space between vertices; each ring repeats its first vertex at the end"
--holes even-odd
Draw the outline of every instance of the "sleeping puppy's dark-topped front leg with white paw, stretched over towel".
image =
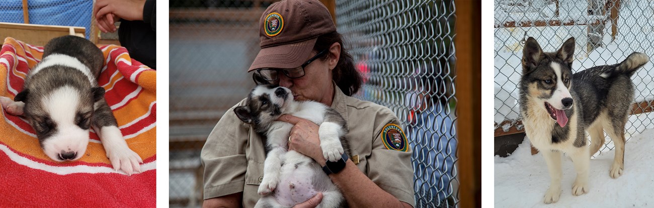
POLYGON ((139 164, 142 164, 143 160, 139 154, 128 147, 127 142, 123 139, 118 122, 107 105, 107 101, 102 98, 95 102, 94 106, 92 126, 105 147, 111 165, 116 171, 120 169, 128 175, 140 173, 141 165, 139 164))

